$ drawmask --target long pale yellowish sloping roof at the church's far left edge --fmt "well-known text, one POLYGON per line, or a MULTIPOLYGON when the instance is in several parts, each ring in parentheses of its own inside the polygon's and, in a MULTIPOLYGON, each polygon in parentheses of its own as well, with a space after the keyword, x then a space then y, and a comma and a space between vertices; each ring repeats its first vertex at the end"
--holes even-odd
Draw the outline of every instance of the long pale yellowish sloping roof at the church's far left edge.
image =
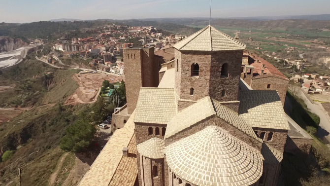
MULTIPOLYGON (((125 126, 116 130, 78 186, 108 186, 134 134, 134 112, 125 126), (101 174, 100 174, 101 173, 101 174)), ((136 160, 135 160, 136 163, 136 160)))

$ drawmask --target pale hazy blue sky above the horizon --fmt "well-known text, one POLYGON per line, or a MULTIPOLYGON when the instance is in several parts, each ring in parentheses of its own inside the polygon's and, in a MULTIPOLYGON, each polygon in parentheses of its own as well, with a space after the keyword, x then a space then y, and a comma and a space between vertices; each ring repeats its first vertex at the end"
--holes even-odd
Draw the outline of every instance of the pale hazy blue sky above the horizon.
MULTIPOLYGON (((0 22, 208 17, 209 0, 0 0, 0 22)), ((212 17, 330 13, 330 0, 213 0, 212 17)))

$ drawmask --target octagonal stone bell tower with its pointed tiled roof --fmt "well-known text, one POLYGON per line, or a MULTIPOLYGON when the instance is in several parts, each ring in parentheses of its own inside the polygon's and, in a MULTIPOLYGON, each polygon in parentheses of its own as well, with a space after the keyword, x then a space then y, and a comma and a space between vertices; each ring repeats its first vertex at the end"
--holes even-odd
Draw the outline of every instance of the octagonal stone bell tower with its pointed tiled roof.
POLYGON ((180 99, 210 96, 219 102, 238 102, 245 44, 209 25, 174 48, 175 90, 180 99))

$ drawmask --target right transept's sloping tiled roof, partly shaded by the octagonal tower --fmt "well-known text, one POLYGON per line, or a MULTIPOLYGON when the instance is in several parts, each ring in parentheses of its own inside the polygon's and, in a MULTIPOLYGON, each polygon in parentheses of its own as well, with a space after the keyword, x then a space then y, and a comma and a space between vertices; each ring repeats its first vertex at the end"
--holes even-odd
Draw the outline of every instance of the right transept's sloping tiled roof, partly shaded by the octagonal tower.
POLYGON ((275 90, 241 90, 239 116, 250 126, 290 130, 275 90))

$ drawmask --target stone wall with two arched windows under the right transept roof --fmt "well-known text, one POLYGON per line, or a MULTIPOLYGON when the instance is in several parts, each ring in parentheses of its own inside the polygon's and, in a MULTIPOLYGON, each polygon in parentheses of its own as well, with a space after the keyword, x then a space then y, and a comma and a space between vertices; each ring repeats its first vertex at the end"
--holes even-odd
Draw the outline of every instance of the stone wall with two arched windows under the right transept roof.
POLYGON ((261 133, 264 132, 264 143, 269 144, 271 147, 284 152, 284 146, 288 137, 288 130, 279 130, 279 129, 265 129, 252 127, 255 132, 258 132, 257 136, 260 137, 261 133), (267 140, 269 133, 272 132, 272 140, 267 140))

